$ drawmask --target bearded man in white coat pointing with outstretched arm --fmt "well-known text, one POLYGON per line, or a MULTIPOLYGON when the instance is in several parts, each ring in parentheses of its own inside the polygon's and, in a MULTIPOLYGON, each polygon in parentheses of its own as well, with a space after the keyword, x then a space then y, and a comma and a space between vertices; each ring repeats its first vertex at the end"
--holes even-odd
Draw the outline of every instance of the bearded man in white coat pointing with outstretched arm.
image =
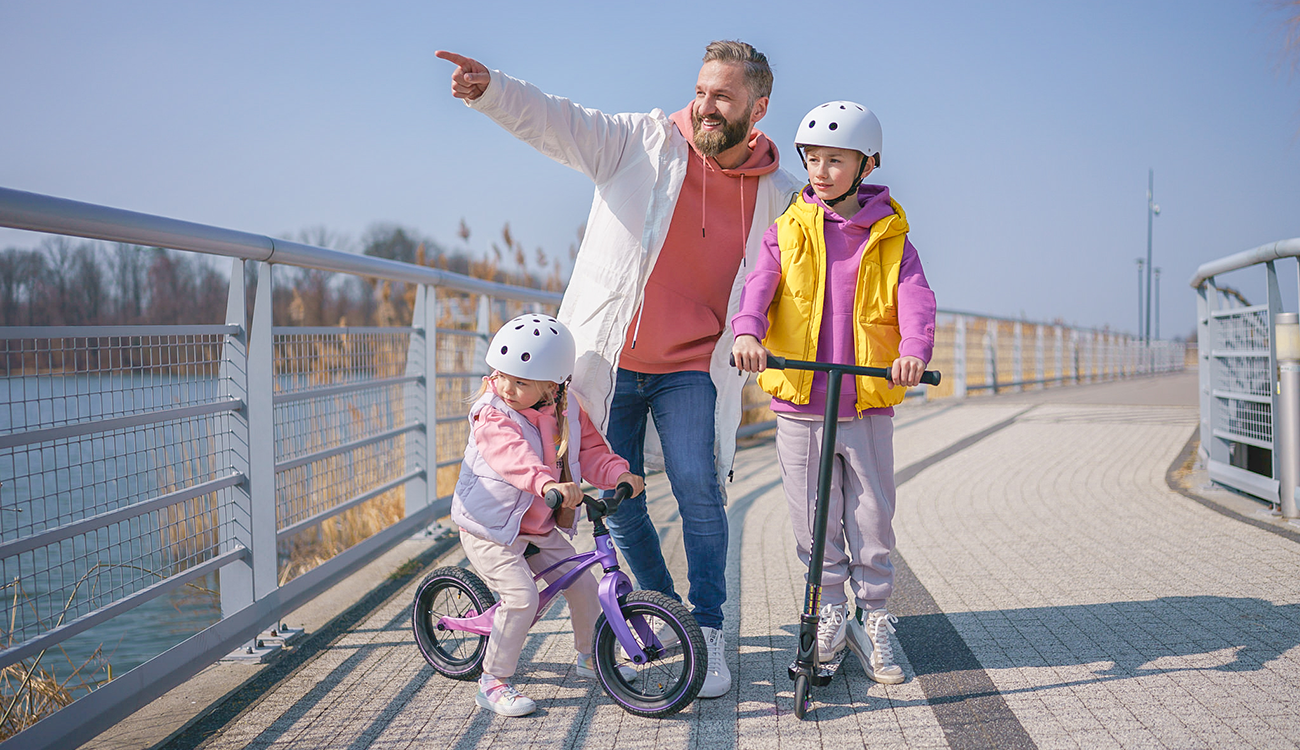
MULTIPOLYGON (((723 640, 727 511, 744 380, 728 365, 745 270, 800 188, 753 126, 772 71, 744 42, 705 49, 696 97, 664 114, 586 109, 454 52, 451 91, 516 138, 595 182, 559 318, 577 342, 573 390, 630 471, 663 467, 677 499, 696 620, 708 643, 699 692, 731 690, 723 640), (653 425, 646 417, 651 417, 653 425)), ((677 598, 646 498, 610 533, 642 589, 677 598)))

